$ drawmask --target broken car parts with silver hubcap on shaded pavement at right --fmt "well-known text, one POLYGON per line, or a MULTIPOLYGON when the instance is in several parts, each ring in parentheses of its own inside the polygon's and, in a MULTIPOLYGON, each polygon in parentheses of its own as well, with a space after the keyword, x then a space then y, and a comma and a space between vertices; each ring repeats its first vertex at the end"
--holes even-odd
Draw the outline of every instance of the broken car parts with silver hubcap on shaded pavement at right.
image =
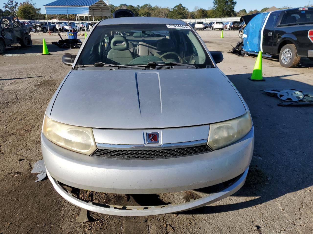
POLYGON ((289 90, 262 90, 267 95, 272 97, 278 97, 283 101, 288 101, 289 103, 280 102, 279 106, 306 106, 313 105, 313 93, 304 93, 300 90, 289 89, 289 90))

